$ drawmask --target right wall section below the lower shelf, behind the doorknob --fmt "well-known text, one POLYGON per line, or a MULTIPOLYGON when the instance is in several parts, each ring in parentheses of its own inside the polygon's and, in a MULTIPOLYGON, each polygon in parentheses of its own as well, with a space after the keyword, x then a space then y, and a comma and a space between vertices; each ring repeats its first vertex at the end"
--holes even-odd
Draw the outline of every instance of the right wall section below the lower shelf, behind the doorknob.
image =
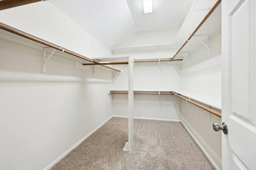
MULTIPOLYGON (((202 103, 200 103, 202 104, 202 103)), ((202 104, 203 106, 206 106, 202 104)), ((206 106, 208 107, 208 106, 206 106)), ((219 109, 211 108, 221 113, 219 109)), ((221 133, 212 129, 213 123, 221 125, 221 118, 207 111, 189 104, 185 100, 181 102, 181 120, 190 132, 190 135, 204 151, 208 159, 216 169, 221 169, 221 133)))

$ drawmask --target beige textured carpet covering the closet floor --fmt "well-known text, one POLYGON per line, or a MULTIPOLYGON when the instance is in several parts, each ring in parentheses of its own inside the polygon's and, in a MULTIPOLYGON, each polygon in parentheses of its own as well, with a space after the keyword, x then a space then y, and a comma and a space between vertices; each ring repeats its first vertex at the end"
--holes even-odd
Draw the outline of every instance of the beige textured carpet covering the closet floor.
POLYGON ((113 117, 51 170, 214 170, 179 122, 134 119, 134 146, 128 119, 113 117))

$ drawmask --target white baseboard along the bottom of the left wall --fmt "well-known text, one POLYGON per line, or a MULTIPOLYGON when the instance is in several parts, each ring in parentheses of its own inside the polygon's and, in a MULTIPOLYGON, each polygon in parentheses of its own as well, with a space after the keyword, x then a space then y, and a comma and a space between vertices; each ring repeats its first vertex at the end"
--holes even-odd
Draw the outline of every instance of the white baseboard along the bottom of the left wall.
POLYGON ((80 145, 85 139, 87 139, 90 135, 92 135, 92 133, 94 133, 95 131, 97 131, 98 129, 100 129, 100 127, 102 127, 102 125, 104 125, 107 121, 109 121, 113 116, 110 116, 106 121, 104 121, 103 123, 101 123, 98 127, 96 127, 93 131, 91 131, 88 135, 86 135, 83 139, 81 139, 78 143, 76 143, 73 147, 71 147, 70 149, 68 149, 66 152, 64 152, 64 154, 62 154, 60 157, 58 157, 56 160, 54 160, 50 165, 46 166, 46 168, 44 168, 44 170, 49 170, 50 168, 52 168, 55 164, 57 164, 62 158, 64 158, 67 154, 69 154, 73 149, 75 149, 78 145, 80 145))

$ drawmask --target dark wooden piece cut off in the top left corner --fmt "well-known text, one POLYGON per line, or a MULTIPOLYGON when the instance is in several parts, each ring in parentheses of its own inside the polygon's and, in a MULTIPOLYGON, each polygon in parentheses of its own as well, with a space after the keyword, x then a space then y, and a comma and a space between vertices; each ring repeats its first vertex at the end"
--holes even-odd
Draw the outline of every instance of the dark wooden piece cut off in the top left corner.
POLYGON ((41 0, 2 0, 0 1, 0 10, 6 10, 8 8, 14 8, 16 6, 22 6, 39 1, 41 0))

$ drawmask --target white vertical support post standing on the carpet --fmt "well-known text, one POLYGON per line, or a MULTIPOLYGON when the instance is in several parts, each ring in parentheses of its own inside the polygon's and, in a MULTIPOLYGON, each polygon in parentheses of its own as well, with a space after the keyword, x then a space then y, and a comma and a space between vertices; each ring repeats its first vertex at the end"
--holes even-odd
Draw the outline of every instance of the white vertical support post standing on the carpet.
MULTIPOLYGON (((135 50, 134 50, 135 51, 135 50)), ((128 142, 123 150, 130 151, 133 146, 133 63, 128 57, 128 142)))

